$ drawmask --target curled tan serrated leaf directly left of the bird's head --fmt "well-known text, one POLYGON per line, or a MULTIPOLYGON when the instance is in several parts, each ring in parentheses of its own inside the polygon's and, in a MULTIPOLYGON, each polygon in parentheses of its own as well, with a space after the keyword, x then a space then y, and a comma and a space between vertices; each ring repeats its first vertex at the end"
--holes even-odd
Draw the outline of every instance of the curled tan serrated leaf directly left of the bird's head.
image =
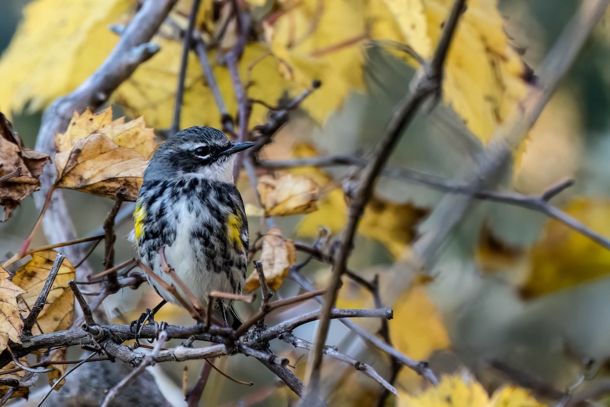
POLYGON ((143 118, 112 121, 112 108, 107 108, 98 115, 74 113, 66 132, 56 135, 55 146, 57 188, 110 199, 125 188, 125 199, 135 200, 156 144, 143 118))

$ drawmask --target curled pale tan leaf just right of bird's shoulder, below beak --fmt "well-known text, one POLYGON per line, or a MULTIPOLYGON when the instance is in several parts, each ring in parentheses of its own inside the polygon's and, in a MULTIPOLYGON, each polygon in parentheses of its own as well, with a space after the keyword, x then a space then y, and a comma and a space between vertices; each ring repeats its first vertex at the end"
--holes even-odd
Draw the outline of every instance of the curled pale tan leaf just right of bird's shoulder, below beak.
POLYGON ((260 177, 260 202, 267 216, 290 216, 317 210, 320 188, 307 177, 260 177))

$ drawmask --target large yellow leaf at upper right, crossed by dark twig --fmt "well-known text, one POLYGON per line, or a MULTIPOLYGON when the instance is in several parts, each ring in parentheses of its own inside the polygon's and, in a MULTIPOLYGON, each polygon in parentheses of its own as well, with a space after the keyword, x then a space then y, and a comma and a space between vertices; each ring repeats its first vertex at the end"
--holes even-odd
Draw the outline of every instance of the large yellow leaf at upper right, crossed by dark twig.
MULTIPOLYGON (((451 4, 452 0, 371 0, 371 35, 408 44, 429 60, 451 4)), ((497 0, 468 1, 445 63, 445 103, 478 138, 489 141, 525 97, 527 75, 508 42, 497 0)))

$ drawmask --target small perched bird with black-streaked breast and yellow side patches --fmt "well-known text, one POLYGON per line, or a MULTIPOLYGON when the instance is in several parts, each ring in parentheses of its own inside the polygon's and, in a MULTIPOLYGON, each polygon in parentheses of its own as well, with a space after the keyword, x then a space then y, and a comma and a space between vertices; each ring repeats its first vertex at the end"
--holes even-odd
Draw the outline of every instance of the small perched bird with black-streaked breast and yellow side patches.
MULTIPOLYGON (((144 172, 134 211, 140 261, 172 284, 160 261, 165 246, 167 263, 202 304, 210 291, 243 289, 248 223, 233 169, 235 153, 253 144, 231 143, 211 127, 189 127, 161 144, 144 172)), ((164 300, 178 303, 152 278, 148 282, 164 300)), ((224 321, 239 325, 231 303, 218 303, 224 321)))

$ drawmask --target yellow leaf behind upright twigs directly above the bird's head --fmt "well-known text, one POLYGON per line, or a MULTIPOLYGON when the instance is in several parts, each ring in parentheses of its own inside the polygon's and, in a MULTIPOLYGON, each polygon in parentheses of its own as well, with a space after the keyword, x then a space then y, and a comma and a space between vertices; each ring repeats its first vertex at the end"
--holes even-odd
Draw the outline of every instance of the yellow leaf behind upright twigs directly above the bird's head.
MULTIPOLYGON (((169 127, 176 97, 176 83, 180 69, 182 44, 179 41, 158 37, 160 51, 127 79, 113 94, 113 100, 124 108, 127 115, 143 115, 152 127, 169 127)), ((229 114, 237 113, 235 91, 226 65, 217 62, 217 55, 210 51, 210 64, 223 95, 229 114)), ((239 61, 242 81, 248 88, 248 96, 275 105, 290 84, 278 74, 277 64, 269 49, 258 43, 249 44, 239 61)), ((250 124, 262 124, 267 108, 254 104, 250 124)), ((195 54, 188 57, 185 78, 184 105, 180 127, 210 126, 220 128, 220 110, 207 85, 201 63, 195 54), (205 108, 202 108, 205 107, 205 108)))

